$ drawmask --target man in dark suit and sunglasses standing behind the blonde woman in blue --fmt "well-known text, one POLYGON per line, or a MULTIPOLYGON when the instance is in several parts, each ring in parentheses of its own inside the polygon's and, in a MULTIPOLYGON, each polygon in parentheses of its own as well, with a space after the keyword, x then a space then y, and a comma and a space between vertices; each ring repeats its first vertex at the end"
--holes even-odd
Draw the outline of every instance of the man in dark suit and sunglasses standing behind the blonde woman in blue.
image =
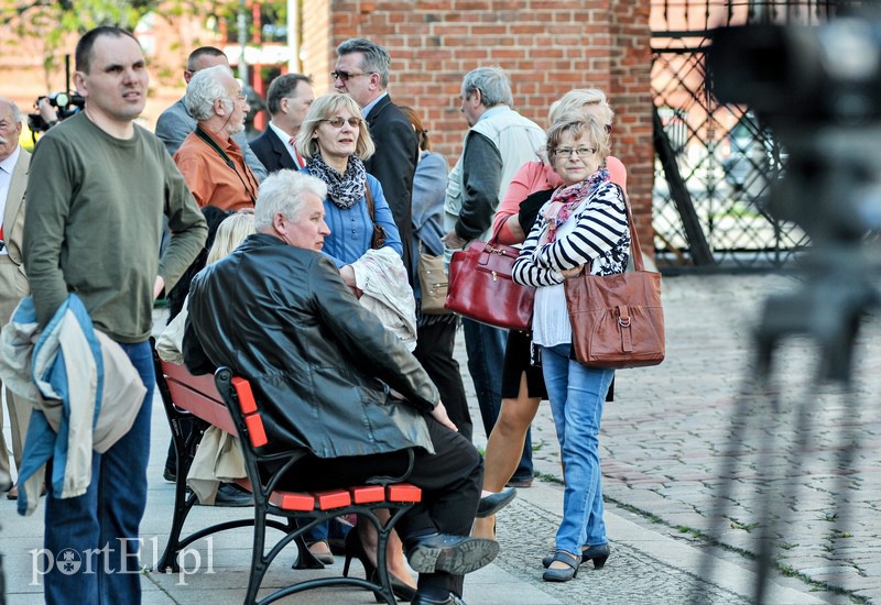
POLYGON ((404 244, 404 266, 412 286, 415 263, 411 204, 413 174, 420 153, 416 133, 387 91, 392 59, 384 47, 367 38, 355 37, 337 46, 337 55, 336 66, 330 74, 334 87, 351 95, 361 106, 361 116, 377 146, 377 152, 365 162, 365 167, 379 179, 392 209, 404 244))

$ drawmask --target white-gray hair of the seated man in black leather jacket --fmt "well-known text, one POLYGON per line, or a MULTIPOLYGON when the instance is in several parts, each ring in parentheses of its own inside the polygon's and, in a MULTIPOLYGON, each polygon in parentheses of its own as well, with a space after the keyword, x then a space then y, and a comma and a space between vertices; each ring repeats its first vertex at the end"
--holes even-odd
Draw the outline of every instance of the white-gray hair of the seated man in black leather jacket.
POLYGON ((305 194, 315 194, 324 199, 327 197, 327 185, 320 178, 300 170, 284 169, 269 175, 257 193, 254 229, 265 232, 280 212, 285 219, 295 220, 305 194))

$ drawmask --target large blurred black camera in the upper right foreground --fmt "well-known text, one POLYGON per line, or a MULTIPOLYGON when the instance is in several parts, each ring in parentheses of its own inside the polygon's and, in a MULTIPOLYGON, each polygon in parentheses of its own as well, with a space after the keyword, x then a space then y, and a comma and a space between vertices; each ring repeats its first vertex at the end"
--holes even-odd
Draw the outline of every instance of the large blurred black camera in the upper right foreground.
POLYGON ((717 30, 710 90, 749 106, 788 153, 768 209, 814 243, 881 230, 881 20, 717 30))

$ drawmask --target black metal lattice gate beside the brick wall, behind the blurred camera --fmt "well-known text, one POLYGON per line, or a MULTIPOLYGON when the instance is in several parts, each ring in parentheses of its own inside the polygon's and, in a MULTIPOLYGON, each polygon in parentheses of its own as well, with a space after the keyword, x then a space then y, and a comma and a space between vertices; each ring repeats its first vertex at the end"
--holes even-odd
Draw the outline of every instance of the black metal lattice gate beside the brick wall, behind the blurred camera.
POLYGON ((765 199, 786 151, 748 107, 719 105, 705 84, 711 31, 752 23, 818 24, 848 0, 653 0, 653 227, 662 271, 768 270, 809 242, 765 199))

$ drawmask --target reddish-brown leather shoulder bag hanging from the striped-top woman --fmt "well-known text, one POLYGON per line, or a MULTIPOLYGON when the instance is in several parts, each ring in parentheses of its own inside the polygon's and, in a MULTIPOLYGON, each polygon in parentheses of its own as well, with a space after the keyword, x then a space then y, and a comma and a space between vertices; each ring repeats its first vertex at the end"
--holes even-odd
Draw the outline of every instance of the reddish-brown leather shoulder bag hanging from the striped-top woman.
POLYGON ((585 272, 564 282, 575 356, 592 367, 642 367, 664 361, 661 274, 645 271, 630 202, 621 195, 634 271, 602 276, 585 272))

